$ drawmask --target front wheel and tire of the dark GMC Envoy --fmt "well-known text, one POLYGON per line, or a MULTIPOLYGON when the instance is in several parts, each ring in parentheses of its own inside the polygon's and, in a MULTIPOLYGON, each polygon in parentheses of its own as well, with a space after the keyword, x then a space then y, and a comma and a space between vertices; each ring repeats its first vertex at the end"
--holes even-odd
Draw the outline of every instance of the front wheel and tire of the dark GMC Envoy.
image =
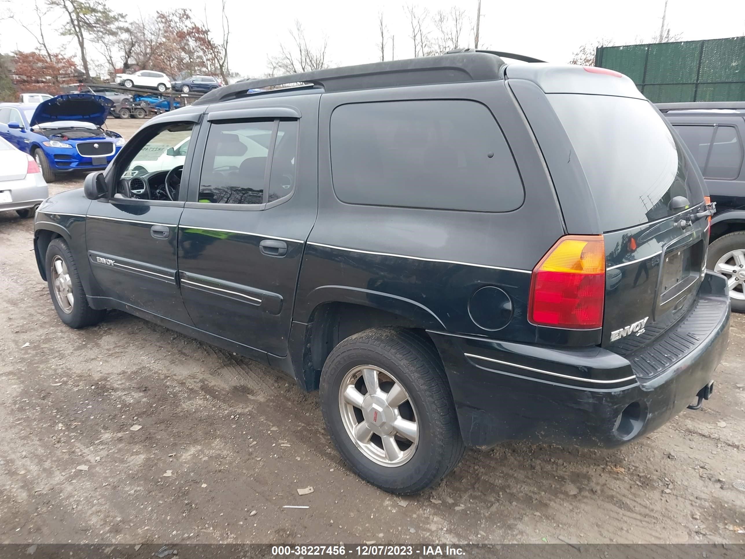
POLYGON ((45 265, 49 294, 60 320, 71 328, 92 326, 104 320, 105 310, 89 306, 75 259, 63 239, 49 243, 45 265))

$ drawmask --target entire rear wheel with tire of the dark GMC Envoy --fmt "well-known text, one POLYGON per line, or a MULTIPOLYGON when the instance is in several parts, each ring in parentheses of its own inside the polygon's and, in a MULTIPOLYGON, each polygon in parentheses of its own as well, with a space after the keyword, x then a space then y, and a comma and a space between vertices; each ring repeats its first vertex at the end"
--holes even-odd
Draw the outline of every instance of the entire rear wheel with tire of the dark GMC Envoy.
POLYGON ((320 380, 323 419, 358 476, 390 493, 418 493, 463 456, 443 364, 431 342, 369 329, 332 350, 320 380))

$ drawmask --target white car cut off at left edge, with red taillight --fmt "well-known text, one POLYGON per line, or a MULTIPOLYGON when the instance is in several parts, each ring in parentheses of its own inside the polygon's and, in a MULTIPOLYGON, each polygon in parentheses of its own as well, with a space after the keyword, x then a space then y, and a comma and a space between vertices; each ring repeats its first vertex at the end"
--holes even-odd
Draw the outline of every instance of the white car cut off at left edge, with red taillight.
POLYGON ((16 210, 33 218, 49 196, 46 181, 34 158, 0 138, 0 211, 16 210))

